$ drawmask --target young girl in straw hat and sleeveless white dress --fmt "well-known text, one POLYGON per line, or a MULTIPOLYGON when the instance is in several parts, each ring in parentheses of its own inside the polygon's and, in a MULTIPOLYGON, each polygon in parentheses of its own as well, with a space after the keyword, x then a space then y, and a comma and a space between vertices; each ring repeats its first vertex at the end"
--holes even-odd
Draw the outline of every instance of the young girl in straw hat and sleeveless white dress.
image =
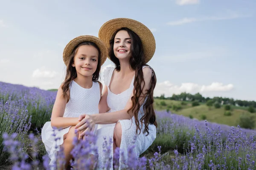
POLYGON ((74 126, 79 122, 79 115, 99 113, 102 84, 98 79, 106 56, 105 44, 99 38, 89 35, 74 38, 64 48, 66 77, 58 88, 51 122, 45 123, 41 134, 51 159, 50 164, 54 164, 56 154, 63 146, 67 168, 72 158, 72 142, 77 136, 74 126), (60 129, 55 130, 55 136, 52 135, 53 129, 60 129))

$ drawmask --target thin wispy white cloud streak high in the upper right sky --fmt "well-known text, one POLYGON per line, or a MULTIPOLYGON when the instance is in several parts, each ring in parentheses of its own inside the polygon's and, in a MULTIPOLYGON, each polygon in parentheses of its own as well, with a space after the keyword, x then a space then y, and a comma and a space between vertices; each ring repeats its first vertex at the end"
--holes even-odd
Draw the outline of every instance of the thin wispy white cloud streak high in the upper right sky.
POLYGON ((194 23, 194 22, 203 22, 203 21, 209 21, 209 20, 233 20, 233 19, 238 19, 238 18, 246 18, 246 17, 251 17, 251 15, 239 15, 236 13, 231 13, 227 16, 212 16, 212 17, 201 17, 201 18, 183 18, 181 20, 177 21, 171 21, 167 23, 167 25, 170 26, 179 26, 187 23, 194 23))

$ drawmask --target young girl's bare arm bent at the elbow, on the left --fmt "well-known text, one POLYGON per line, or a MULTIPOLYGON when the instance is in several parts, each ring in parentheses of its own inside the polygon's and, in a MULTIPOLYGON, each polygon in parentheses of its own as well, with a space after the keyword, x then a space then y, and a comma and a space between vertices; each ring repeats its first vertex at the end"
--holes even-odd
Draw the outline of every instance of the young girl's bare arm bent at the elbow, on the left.
MULTIPOLYGON (((58 88, 57 96, 55 99, 55 103, 52 108, 52 117, 51 117, 51 125, 54 128, 63 129, 69 126, 75 126, 79 121, 77 117, 63 117, 65 107, 67 104, 67 98, 62 96, 63 91, 61 86, 58 88)), ((68 95, 69 91, 68 91, 68 95)))

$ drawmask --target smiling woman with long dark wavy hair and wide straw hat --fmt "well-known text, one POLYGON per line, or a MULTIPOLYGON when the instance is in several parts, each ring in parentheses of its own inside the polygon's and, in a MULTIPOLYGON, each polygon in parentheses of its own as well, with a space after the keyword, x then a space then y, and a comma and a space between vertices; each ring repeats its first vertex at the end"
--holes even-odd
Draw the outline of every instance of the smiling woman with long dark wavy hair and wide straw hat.
POLYGON ((154 55, 155 40, 146 26, 126 18, 106 22, 99 30, 99 38, 108 46, 108 57, 115 63, 115 68, 104 71, 105 88, 99 104, 99 112, 103 114, 81 115, 81 122, 75 128, 83 136, 99 124, 97 167, 105 166, 102 145, 107 137, 113 139, 110 165, 113 149, 119 147, 124 152, 119 158, 121 169, 124 165, 121 163, 128 159, 129 146, 135 144, 133 152, 138 158, 156 138, 153 108, 156 76, 146 65, 154 55))

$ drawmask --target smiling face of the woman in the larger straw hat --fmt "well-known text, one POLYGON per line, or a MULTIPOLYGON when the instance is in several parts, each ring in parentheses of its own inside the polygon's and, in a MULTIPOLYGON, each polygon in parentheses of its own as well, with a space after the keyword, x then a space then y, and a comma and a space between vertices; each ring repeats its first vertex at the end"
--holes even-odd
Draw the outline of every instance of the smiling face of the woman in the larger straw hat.
POLYGON ((131 57, 131 37, 125 30, 120 30, 116 33, 114 39, 113 50, 116 58, 120 59, 130 59, 131 57))

